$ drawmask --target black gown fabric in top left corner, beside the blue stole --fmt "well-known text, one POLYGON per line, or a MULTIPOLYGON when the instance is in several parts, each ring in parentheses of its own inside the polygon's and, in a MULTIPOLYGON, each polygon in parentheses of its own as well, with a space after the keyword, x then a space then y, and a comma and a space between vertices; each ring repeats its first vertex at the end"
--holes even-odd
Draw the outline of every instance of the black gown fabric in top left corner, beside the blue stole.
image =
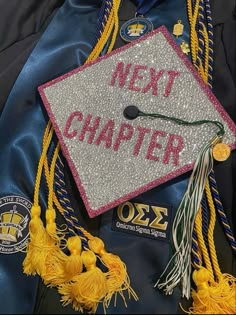
POLYGON ((0 0, 0 114, 16 76, 63 0, 0 0))

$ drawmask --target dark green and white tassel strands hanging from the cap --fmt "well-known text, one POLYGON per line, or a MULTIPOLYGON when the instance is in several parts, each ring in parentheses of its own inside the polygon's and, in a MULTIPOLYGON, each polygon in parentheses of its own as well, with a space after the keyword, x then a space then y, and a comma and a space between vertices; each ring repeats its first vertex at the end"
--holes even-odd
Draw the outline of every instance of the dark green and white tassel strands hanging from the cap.
POLYGON ((207 176, 213 167, 212 144, 218 140, 218 136, 212 139, 199 154, 189 179, 188 188, 177 209, 172 227, 175 252, 155 284, 155 287, 163 290, 166 294, 172 294, 173 289, 181 282, 182 296, 187 299, 190 298, 193 226, 207 176))

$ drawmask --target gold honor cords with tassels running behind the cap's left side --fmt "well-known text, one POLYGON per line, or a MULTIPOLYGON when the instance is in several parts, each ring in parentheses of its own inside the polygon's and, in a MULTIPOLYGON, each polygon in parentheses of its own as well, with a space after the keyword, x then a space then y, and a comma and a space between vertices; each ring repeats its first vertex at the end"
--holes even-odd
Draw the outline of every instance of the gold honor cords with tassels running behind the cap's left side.
MULTIPOLYGON (((95 60, 109 43, 107 52, 110 52, 115 43, 119 29, 118 9, 120 0, 114 0, 106 23, 97 44, 87 58, 87 62, 95 60)), ((72 304, 80 312, 95 313, 99 303, 103 304, 104 312, 111 303, 121 296, 125 305, 124 292, 128 298, 138 300, 131 288, 126 266, 121 259, 105 250, 105 246, 97 237, 93 237, 85 229, 80 228, 83 237, 74 235, 66 239, 67 230, 58 230, 56 227, 56 211, 53 205, 65 216, 67 210, 63 208, 54 189, 56 161, 59 159, 60 145, 57 144, 49 168, 47 154, 52 144, 53 129, 50 121, 45 129, 42 153, 38 164, 35 181, 34 204, 31 209, 30 242, 27 255, 23 262, 24 272, 28 275, 38 274, 49 287, 57 287, 62 295, 63 305, 72 304), (48 208, 46 210, 46 228, 41 220, 39 205, 40 182, 43 175, 48 184, 48 208), (82 243, 86 239, 88 247, 82 251, 82 243), (63 249, 67 247, 69 255, 63 249), (106 272, 96 266, 99 259, 106 272), (84 267, 83 267, 84 266, 84 267), (85 269, 85 270, 84 270, 85 269)), ((77 218, 72 218, 77 220, 77 218)), ((76 221, 76 222, 77 222, 76 221)), ((74 222, 74 221, 73 221, 74 222)), ((72 233, 73 229, 71 230, 72 233)))

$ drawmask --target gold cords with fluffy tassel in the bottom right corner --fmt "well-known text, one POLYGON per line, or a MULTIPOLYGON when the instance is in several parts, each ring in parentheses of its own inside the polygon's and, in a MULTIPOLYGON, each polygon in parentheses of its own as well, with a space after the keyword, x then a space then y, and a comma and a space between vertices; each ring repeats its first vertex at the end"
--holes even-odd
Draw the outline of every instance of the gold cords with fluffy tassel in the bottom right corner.
POLYGON ((210 222, 207 233, 209 249, 204 240, 201 227, 201 214, 197 216, 195 225, 199 238, 200 250, 203 253, 205 266, 194 270, 193 280, 196 289, 192 290, 193 305, 189 314, 235 314, 236 313, 236 279, 229 274, 222 274, 215 250, 213 231, 215 225, 215 209, 209 182, 206 183, 206 195, 210 208, 210 222))

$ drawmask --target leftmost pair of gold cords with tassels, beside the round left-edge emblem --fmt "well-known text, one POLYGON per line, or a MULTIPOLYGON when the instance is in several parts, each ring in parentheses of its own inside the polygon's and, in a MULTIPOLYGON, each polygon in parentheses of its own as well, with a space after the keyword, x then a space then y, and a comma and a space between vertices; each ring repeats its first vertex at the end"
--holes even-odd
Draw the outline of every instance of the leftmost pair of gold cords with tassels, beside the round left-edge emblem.
MULTIPOLYGON (((48 284, 48 277, 50 277, 50 270, 55 266, 59 268, 58 262, 64 261, 66 255, 61 251, 61 240, 64 239, 64 234, 58 232, 56 228, 56 212, 53 209, 53 178, 55 169, 55 160, 58 154, 59 145, 53 153, 52 163, 50 167, 49 176, 49 197, 48 209, 46 210, 46 227, 40 218, 41 209, 38 205, 40 181, 42 177, 43 165, 47 160, 47 152, 52 140, 53 130, 51 124, 48 123, 43 138, 43 149, 39 161, 38 171, 36 175, 36 185, 34 194, 34 206, 31 209, 30 221, 30 242, 27 248, 27 255, 23 262, 24 272, 26 274, 38 274, 43 281, 48 284), (58 235, 59 233, 59 235, 58 235)), ((51 283, 49 285, 52 286, 51 283)))

